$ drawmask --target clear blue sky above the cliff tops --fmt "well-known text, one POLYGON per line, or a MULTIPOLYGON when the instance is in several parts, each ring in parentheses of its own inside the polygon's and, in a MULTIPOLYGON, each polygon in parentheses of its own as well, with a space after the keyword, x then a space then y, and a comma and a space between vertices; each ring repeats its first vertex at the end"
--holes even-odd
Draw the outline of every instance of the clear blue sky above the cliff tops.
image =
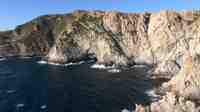
POLYGON ((74 10, 157 12, 200 9, 200 0, 0 0, 0 31, 13 29, 37 16, 74 10))

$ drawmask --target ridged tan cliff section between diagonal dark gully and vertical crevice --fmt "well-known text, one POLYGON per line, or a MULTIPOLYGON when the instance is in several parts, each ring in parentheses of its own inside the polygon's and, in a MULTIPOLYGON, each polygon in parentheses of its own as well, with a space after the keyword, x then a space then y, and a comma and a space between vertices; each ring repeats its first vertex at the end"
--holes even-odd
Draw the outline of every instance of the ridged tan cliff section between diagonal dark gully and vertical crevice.
POLYGON ((127 58, 137 63, 153 63, 149 50, 148 23, 149 13, 123 14, 108 12, 103 17, 104 28, 112 32, 113 39, 119 44, 127 58))

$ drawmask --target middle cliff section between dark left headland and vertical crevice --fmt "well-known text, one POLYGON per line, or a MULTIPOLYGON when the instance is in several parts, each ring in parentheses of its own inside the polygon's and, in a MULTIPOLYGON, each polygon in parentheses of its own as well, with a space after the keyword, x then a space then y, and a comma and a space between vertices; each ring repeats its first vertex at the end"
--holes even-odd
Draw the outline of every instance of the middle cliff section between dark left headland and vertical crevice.
MULTIPOLYGON (((132 64, 148 44, 145 38, 149 15, 75 12, 72 22, 63 29, 55 43, 65 55, 65 62, 93 55, 98 63, 132 64), (143 43, 145 45, 141 45, 143 43)), ((54 60, 51 53, 48 57, 54 60)))

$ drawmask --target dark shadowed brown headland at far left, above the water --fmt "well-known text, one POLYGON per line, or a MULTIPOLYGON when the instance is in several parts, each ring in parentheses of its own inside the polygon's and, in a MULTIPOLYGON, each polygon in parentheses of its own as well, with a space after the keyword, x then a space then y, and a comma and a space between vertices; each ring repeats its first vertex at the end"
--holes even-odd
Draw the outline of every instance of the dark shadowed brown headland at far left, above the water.
POLYGON ((54 44, 51 31, 54 16, 43 16, 18 26, 9 32, 0 32, 0 56, 45 55, 54 44), (4 42, 8 40, 7 42, 4 42))

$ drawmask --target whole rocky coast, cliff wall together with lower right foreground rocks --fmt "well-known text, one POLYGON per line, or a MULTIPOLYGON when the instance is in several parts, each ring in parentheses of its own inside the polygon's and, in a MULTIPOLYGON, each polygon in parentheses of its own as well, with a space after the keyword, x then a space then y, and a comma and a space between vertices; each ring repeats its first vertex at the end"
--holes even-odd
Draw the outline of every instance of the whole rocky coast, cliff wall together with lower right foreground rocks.
POLYGON ((0 32, 0 57, 9 56, 40 56, 56 63, 95 58, 106 65, 152 65, 152 78, 169 81, 158 88, 163 93, 158 101, 137 104, 136 112, 200 111, 200 11, 77 10, 40 16, 0 32))

